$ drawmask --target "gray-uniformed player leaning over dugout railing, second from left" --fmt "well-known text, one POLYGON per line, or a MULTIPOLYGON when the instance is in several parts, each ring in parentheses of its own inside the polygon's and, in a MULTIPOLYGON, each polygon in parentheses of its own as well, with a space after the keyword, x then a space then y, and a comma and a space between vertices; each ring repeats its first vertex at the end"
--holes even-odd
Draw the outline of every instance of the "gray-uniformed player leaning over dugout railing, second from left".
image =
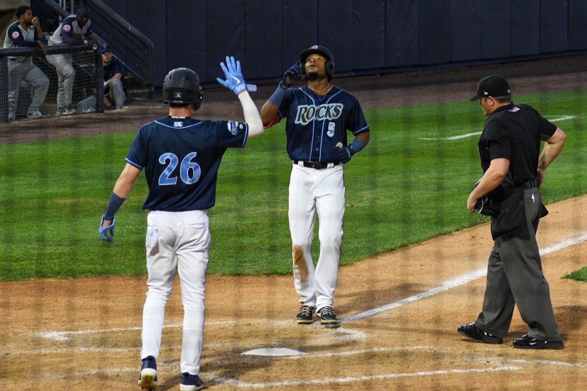
MULTIPOLYGON (((69 15, 63 19, 59 28, 55 30, 49 45, 97 45, 95 39, 87 39, 92 33, 92 21, 90 21, 90 10, 86 7, 77 9, 76 15, 69 15)), ((73 80, 75 70, 72 66, 71 53, 47 56, 47 61, 55 67, 59 78, 59 89, 57 91, 57 115, 68 115, 75 113, 72 108, 73 80)))

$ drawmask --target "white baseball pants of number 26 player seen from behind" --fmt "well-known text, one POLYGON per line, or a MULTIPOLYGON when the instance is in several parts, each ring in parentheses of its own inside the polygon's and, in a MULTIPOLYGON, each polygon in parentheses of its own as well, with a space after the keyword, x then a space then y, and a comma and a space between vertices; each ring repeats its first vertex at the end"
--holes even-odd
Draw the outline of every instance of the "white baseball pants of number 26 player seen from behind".
POLYGON ((165 304, 175 271, 184 307, 181 372, 200 373, 204 335, 204 283, 210 249, 208 212, 153 211, 147 217, 147 298, 143 307, 141 359, 158 359, 165 304))

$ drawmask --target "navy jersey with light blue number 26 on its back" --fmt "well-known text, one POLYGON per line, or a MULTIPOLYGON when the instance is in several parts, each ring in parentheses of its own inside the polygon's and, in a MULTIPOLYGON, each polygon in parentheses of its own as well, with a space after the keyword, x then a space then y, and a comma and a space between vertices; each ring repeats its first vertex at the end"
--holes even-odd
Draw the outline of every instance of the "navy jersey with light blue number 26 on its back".
POLYGON ((143 209, 184 212, 212 208, 218 166, 227 148, 242 148, 248 125, 166 117, 143 125, 126 161, 145 169, 143 209))

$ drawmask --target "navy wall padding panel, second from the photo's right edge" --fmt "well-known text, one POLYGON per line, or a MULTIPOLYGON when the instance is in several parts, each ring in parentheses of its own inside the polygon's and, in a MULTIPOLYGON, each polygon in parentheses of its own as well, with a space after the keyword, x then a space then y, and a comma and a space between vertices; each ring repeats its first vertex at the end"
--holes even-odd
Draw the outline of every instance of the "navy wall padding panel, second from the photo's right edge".
POLYGON ((568 47, 568 0, 540 1, 540 52, 564 52, 568 47))

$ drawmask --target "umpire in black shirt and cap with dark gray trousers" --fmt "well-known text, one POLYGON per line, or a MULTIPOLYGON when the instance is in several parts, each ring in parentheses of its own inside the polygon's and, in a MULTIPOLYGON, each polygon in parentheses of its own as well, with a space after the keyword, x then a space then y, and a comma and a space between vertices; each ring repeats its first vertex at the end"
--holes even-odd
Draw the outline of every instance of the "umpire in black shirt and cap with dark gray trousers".
POLYGON ((487 121, 478 143, 483 178, 467 200, 474 212, 488 195, 497 214, 491 217, 494 246, 487 267, 483 311, 477 320, 458 327, 476 341, 501 344, 508 333, 514 305, 528 324, 528 334, 514 339, 522 349, 561 349, 548 282, 542 273, 536 242, 538 220, 548 213, 538 191, 544 171, 561 152, 566 135, 538 111, 511 101, 510 86, 498 75, 479 81, 477 94, 487 121), (545 141, 542 154, 540 142, 545 141))

